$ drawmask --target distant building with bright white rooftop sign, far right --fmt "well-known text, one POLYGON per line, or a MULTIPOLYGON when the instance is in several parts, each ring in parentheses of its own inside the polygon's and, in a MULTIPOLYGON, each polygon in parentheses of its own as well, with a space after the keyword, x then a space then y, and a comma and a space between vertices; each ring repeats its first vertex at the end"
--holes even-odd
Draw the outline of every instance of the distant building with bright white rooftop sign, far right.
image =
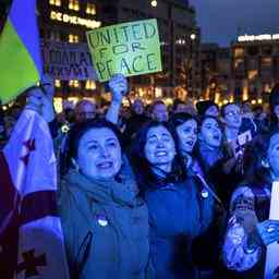
POLYGON ((244 35, 231 45, 231 72, 235 98, 253 104, 268 101, 279 82, 279 34, 244 35))

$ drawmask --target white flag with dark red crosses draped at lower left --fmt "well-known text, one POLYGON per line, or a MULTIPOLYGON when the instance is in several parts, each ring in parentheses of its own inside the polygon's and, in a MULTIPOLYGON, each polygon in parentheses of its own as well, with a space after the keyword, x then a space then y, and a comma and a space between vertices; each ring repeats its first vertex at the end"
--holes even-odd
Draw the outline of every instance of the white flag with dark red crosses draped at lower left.
POLYGON ((0 153, 0 278, 69 278, 56 162, 48 124, 25 109, 0 153))

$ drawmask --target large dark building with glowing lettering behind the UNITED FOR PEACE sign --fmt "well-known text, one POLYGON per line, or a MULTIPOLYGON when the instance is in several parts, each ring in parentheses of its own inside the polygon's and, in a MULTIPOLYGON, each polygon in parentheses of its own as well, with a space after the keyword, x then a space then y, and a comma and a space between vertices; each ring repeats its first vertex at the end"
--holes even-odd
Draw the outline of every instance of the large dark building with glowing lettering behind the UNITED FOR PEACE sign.
MULTIPOLYGON (((157 19, 163 71, 130 77, 131 98, 185 98, 199 84, 199 28, 195 10, 184 0, 40 0, 43 40, 85 43, 86 32, 129 21, 157 19), (191 36, 192 35, 192 36, 191 36), (187 89, 187 90, 186 90, 187 89)), ((98 97, 104 86, 94 81, 56 81, 57 96, 98 97)))

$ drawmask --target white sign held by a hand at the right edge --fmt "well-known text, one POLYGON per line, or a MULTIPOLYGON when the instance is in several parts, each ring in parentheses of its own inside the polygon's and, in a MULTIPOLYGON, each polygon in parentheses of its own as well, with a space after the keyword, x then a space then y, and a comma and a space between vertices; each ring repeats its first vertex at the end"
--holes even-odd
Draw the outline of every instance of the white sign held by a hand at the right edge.
MULTIPOLYGON (((279 220, 279 182, 272 183, 270 202, 270 220, 279 220)), ((279 243, 275 242, 267 246, 265 279, 279 278, 279 243)))

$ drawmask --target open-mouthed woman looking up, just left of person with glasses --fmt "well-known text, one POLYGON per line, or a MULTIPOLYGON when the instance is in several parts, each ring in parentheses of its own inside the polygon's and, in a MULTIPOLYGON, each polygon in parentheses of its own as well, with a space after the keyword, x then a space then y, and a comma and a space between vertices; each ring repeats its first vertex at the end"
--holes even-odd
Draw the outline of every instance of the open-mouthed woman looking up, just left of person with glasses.
POLYGON ((199 122, 197 158, 207 181, 214 185, 226 209, 230 197, 243 178, 242 156, 225 143, 221 122, 214 117, 204 117, 199 122))

